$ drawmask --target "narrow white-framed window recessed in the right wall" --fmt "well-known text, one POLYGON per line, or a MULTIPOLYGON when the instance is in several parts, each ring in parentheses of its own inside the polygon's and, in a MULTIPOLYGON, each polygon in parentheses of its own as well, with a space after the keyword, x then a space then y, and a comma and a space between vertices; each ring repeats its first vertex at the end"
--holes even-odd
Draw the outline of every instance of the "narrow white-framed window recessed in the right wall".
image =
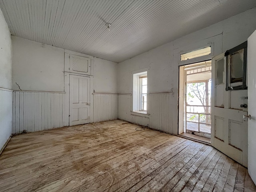
POLYGON ((134 112, 147 113, 148 77, 147 71, 133 74, 134 112))

